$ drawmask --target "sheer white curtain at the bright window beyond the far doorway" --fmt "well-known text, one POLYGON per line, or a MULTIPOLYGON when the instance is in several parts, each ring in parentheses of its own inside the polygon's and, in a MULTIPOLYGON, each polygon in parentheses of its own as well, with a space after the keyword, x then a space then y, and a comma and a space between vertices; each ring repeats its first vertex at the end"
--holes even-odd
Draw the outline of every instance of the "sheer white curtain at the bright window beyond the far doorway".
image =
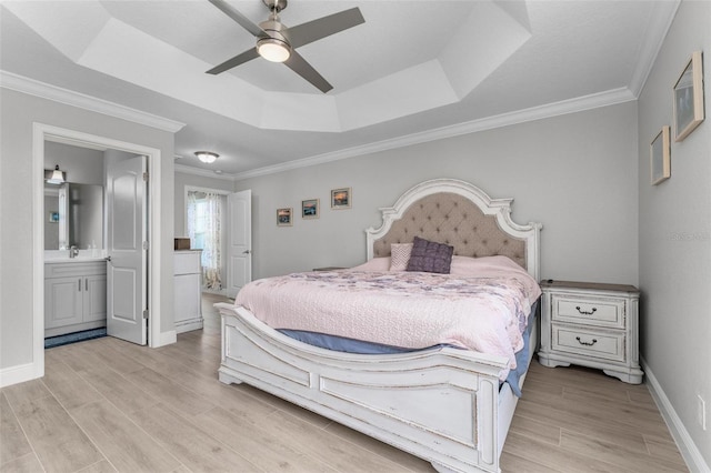
POLYGON ((188 192, 188 236, 190 246, 202 249, 202 281, 210 290, 221 290, 222 266, 220 222, 222 201, 212 192, 188 192))

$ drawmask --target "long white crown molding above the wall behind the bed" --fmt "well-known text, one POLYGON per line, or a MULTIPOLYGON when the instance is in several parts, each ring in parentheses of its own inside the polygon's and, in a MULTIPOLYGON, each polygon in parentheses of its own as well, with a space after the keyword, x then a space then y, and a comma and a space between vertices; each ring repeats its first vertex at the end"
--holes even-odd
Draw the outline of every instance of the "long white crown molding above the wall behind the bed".
POLYGON ((327 162, 339 161, 359 155, 377 153, 381 151, 392 150, 397 148, 410 147, 413 144, 437 141, 447 138, 459 137, 461 134, 475 133, 480 131, 492 130, 495 128, 509 127, 512 124, 524 123, 529 121, 542 120, 569 113, 581 112, 585 110, 598 109, 601 107, 614 105, 637 100, 637 97, 627 88, 609 90, 607 92, 593 93, 590 95, 579 97, 575 99, 563 100, 545 105, 533 107, 530 109, 519 110, 515 112, 503 113, 500 115, 488 117, 484 119, 472 120, 464 123, 458 123, 450 127, 442 127, 434 130, 428 130, 421 133, 398 137, 391 140, 378 141, 361 147, 348 148, 324 154, 303 158, 281 164, 259 168, 252 171, 239 172, 232 174, 232 179, 241 181, 244 179, 258 178, 261 175, 276 174, 279 172, 290 171, 299 168, 307 168, 327 162))

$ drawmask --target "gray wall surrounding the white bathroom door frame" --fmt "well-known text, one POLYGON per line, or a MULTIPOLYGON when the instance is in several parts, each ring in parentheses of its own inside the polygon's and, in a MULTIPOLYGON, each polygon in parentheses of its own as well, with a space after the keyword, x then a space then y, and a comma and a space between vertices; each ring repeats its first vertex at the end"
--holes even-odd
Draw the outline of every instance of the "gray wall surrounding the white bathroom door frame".
MULTIPOLYGON (((32 123, 57 125, 161 150, 163 229, 173 228, 173 134, 0 88, 0 370, 32 363, 32 123)), ((163 232, 161 332, 173 330, 172 234, 163 232)), ((153 314, 156 315, 156 314, 153 314)))

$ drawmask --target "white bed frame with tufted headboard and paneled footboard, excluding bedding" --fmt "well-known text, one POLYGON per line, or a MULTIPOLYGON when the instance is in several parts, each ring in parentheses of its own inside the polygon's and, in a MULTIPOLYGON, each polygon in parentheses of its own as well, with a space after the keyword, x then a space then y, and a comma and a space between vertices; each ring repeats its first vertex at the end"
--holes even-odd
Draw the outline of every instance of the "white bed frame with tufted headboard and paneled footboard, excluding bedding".
MULTIPOLYGON (((538 223, 511 220, 512 199, 490 199, 460 180, 437 179, 381 209, 365 231, 367 261, 415 236, 459 256, 503 255, 539 281, 538 223)), ((271 329, 244 306, 217 304, 222 319, 219 379, 248 383, 431 462, 440 472, 497 472, 518 396, 501 374, 510 360, 440 345, 390 354, 327 350, 271 329)), ((538 343, 535 324, 527 331, 538 343)), ((520 385, 525 379, 521 374, 520 385)))

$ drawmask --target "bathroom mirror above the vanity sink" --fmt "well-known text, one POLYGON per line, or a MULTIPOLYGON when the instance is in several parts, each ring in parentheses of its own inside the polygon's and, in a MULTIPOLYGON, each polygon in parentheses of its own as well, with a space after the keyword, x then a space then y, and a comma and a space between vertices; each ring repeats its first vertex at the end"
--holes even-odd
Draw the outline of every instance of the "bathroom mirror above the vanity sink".
POLYGON ((44 184, 44 250, 103 248, 103 187, 44 184))

